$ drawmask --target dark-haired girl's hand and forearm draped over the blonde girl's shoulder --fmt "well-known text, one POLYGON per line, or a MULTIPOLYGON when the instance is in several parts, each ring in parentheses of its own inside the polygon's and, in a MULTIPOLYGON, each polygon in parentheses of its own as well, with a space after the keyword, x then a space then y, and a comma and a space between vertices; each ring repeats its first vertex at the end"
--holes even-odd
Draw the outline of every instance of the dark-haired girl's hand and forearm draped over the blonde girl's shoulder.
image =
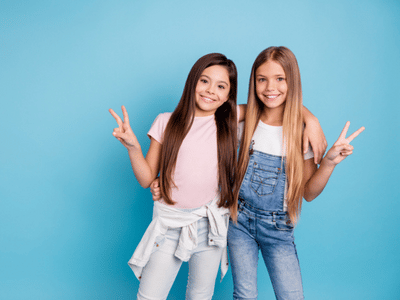
POLYGON ((320 163, 328 144, 318 119, 305 106, 303 106, 303 122, 306 125, 303 132, 303 151, 307 153, 310 143, 314 152, 314 163, 320 163))

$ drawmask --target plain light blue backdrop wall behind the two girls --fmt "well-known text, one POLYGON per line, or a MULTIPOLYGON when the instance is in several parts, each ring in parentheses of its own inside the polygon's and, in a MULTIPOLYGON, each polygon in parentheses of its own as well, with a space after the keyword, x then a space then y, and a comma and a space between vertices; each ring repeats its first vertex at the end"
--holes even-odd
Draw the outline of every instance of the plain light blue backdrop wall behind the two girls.
MULTIPOLYGON (((150 222, 111 135, 126 105, 144 151, 194 62, 221 52, 245 103, 260 51, 297 56, 330 145, 365 126, 296 243, 307 299, 399 299, 400 4, 372 1, 0 1, 0 298, 134 299, 127 265, 150 222), (246 2, 246 3, 245 3, 246 2)), ((183 299, 183 267, 169 299, 183 299)), ((215 299, 231 299, 230 272, 215 299)), ((260 299, 273 299, 260 261, 260 299)))

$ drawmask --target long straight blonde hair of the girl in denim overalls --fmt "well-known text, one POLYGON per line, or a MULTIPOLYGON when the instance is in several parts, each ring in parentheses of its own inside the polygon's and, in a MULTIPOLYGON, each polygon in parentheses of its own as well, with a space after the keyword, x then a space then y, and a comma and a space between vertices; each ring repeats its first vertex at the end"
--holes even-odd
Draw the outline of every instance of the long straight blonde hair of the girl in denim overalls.
MULTIPOLYGON (((269 47, 262 51, 254 61, 249 84, 249 95, 247 101, 247 112, 244 126, 244 133, 240 143, 239 161, 237 170, 237 184, 235 186, 235 201, 239 195, 240 183, 246 173, 249 161, 249 147, 264 111, 264 104, 258 98, 256 93, 256 71, 267 62, 273 60, 280 64, 285 71, 286 82, 288 86, 287 97, 285 101, 285 109, 283 113, 283 137, 284 137, 284 153, 286 154, 286 177, 288 180, 287 204, 289 218, 296 223, 302 204, 302 196, 304 190, 303 182, 303 154, 301 151, 303 138, 303 115, 302 115, 302 91, 300 70, 296 57, 286 47, 269 47)), ((232 206, 231 216, 236 220, 237 205, 232 206)))

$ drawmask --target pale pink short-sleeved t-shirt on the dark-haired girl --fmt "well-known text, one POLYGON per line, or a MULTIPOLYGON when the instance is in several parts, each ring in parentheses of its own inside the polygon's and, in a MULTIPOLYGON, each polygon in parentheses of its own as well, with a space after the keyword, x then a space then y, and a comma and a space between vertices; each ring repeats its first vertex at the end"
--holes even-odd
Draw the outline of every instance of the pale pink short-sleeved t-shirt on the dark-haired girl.
MULTIPOLYGON (((162 144, 170 117, 171 113, 159 114, 147 134, 162 144)), ((178 208, 200 207, 217 195, 218 149, 214 115, 194 118, 179 149, 172 178, 176 187, 172 187, 171 196, 178 208)))

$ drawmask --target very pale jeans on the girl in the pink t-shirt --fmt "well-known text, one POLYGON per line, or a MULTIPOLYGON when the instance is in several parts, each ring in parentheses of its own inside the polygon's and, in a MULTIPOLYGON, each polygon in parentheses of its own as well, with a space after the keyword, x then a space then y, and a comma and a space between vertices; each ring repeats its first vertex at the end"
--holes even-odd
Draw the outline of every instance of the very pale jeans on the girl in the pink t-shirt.
MULTIPOLYGON (((197 221, 198 245, 189 259, 187 300, 211 299, 214 293, 222 248, 208 245, 208 219, 197 221)), ((174 256, 181 229, 168 229, 165 241, 152 253, 143 269, 137 299, 163 300, 175 281, 182 261, 174 256)))

